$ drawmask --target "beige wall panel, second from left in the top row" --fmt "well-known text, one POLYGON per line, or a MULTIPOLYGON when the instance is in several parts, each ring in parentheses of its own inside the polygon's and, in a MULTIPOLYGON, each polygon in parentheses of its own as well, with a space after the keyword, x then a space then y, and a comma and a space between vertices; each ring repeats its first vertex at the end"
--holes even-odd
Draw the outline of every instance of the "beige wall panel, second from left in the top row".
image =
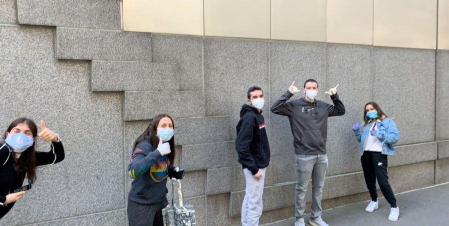
POLYGON ((204 0, 207 36, 270 38, 270 0, 204 0))

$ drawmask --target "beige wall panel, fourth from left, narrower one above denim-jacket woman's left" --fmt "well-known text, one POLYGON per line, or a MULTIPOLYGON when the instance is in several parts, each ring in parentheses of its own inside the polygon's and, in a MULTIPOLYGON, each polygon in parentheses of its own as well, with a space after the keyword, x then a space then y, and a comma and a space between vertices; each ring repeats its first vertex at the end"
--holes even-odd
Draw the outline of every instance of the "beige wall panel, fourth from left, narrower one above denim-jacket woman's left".
POLYGON ((373 0, 327 0, 326 41, 373 44, 373 0))

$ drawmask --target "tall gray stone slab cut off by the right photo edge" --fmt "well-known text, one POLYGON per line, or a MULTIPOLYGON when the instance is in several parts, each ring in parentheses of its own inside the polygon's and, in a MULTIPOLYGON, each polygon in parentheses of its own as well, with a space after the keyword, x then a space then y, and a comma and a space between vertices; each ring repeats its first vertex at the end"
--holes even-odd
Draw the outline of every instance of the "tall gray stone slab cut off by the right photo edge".
POLYGON ((437 51, 436 138, 449 139, 449 51, 437 51))

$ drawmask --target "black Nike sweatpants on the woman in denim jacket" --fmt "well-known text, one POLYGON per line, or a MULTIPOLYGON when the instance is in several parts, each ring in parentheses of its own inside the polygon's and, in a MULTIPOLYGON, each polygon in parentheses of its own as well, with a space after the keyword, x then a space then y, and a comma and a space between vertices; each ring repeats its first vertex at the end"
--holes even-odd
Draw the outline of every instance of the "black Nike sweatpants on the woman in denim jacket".
POLYGON ((371 199, 377 201, 376 178, 379 187, 387 202, 392 208, 396 208, 396 198, 388 183, 388 161, 387 156, 380 152, 364 151, 361 157, 363 175, 366 187, 370 192, 371 199))

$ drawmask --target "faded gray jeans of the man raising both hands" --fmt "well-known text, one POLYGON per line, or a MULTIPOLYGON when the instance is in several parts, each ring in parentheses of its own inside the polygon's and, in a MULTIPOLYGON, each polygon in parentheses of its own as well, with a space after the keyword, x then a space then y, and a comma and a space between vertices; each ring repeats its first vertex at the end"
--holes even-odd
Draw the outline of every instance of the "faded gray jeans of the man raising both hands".
POLYGON ((307 186, 312 178, 312 215, 321 216, 321 198, 323 195, 324 178, 327 170, 327 155, 296 154, 296 187, 295 187, 295 217, 304 218, 307 186))

